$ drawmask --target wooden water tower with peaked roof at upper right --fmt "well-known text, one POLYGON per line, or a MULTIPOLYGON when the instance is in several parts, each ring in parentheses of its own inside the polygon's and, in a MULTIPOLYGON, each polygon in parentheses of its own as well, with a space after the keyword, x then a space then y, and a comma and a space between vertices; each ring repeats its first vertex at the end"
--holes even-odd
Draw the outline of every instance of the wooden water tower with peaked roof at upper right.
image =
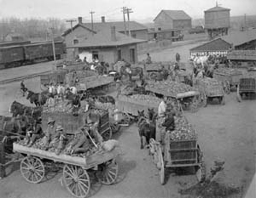
POLYGON ((230 28, 230 9, 220 7, 216 3, 215 7, 205 10, 204 26, 210 39, 227 35, 230 28))

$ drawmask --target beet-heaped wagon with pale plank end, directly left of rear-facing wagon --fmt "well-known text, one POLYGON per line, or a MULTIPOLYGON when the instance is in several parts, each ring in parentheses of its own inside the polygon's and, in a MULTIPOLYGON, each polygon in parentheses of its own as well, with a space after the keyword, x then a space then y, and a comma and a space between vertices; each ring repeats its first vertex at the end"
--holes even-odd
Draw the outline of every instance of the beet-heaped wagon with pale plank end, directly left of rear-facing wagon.
POLYGON ((176 103, 180 103, 184 110, 191 110, 192 112, 198 109, 201 102, 200 92, 197 89, 184 83, 171 81, 171 79, 159 82, 148 81, 145 89, 149 93, 156 94, 156 96, 166 96, 179 101, 176 103))

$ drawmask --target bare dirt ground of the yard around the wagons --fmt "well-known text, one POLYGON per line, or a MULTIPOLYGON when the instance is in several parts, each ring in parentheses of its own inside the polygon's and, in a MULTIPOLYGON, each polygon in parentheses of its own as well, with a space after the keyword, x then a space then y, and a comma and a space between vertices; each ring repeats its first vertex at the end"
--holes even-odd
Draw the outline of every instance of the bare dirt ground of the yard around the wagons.
MULTIPOLYGON (((198 45, 198 44, 197 44, 198 45)), ((151 53, 153 61, 174 60, 175 53, 181 60, 188 58, 188 49, 196 45, 167 49, 151 53)), ((139 59, 144 59, 141 55, 139 59)), ((29 89, 39 91, 39 79, 26 80, 29 89)), ((16 99, 29 104, 19 94, 19 83, 0 86, 0 115, 8 115, 10 103, 16 99)), ((255 173, 256 155, 256 101, 237 102, 235 93, 226 97, 226 104, 208 105, 196 113, 185 113, 198 133, 198 142, 204 152, 207 173, 216 159, 225 160, 224 171, 217 181, 243 188, 243 193, 231 198, 242 198, 255 173)), ((118 158, 119 177, 117 184, 101 186, 94 184, 90 196, 93 198, 187 198, 179 189, 196 183, 195 175, 177 175, 167 171, 167 183, 160 184, 158 171, 148 150, 141 150, 136 125, 123 128, 115 135, 122 145, 123 155, 118 158)), ((18 164, 8 177, 0 180, 0 198, 72 198, 61 186, 61 173, 51 172, 40 184, 29 184, 18 171, 18 164)))

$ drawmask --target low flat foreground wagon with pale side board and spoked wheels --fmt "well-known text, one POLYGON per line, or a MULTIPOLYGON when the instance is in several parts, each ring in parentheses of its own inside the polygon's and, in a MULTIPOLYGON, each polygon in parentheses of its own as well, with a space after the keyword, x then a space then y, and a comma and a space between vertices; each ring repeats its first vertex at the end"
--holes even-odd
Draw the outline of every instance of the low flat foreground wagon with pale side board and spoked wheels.
POLYGON ((61 183, 64 183, 69 193, 76 198, 85 198, 90 191, 91 176, 97 175, 102 184, 111 185, 116 181, 118 164, 116 157, 120 154, 118 147, 111 150, 98 148, 89 156, 72 156, 38 148, 28 148, 18 143, 13 144, 13 150, 24 157, 20 162, 20 172, 23 178, 33 184, 40 183, 45 176, 46 166, 63 167, 61 183))

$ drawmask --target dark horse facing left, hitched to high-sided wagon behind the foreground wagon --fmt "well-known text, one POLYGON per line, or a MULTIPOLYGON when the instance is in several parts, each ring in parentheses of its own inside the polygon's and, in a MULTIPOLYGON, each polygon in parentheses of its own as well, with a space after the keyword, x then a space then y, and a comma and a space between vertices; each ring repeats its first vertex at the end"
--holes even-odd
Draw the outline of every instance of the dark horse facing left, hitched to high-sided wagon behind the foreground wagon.
POLYGON ((36 120, 39 120, 41 118, 41 112, 42 107, 26 106, 15 100, 10 105, 10 113, 12 113, 12 117, 17 117, 18 115, 28 115, 32 116, 36 120))

